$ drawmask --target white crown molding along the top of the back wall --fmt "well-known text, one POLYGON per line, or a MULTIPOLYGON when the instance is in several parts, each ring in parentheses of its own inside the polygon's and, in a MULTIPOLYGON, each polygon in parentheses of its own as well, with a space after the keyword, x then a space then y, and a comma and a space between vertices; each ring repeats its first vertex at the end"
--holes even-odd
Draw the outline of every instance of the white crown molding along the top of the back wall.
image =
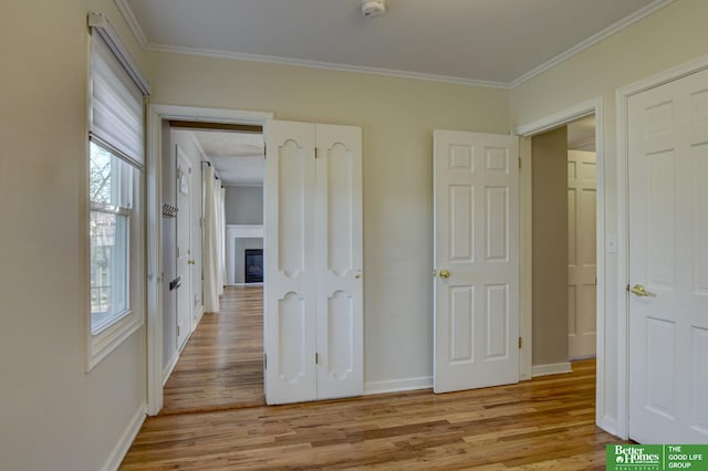
POLYGON ((471 85, 488 88, 508 88, 503 82, 491 82, 471 78, 454 77, 448 75, 424 74, 418 72, 396 71, 393 69, 367 67, 361 65, 336 64, 331 62, 306 61, 302 59, 281 57, 274 55, 246 54, 240 52, 220 51, 198 48, 184 48, 168 44, 148 43, 145 49, 153 52, 171 54, 200 55, 207 57, 231 59, 236 61, 262 62, 268 64, 291 65, 296 67, 323 69, 336 72, 354 72, 369 75, 383 75, 396 78, 413 78, 428 82, 442 82, 456 85, 471 85))

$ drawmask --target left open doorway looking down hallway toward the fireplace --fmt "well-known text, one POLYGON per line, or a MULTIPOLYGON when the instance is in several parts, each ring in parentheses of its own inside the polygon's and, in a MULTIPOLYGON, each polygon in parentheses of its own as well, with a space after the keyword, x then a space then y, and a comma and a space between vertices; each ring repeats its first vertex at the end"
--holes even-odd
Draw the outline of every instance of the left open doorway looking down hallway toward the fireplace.
POLYGON ((163 220, 163 266, 165 280, 178 282, 164 286, 162 414, 264 404, 262 127, 174 119, 165 119, 163 126, 163 205, 171 206, 173 195, 177 201, 176 223, 163 220), (188 178, 191 211, 179 206, 188 178), (220 221, 216 230, 210 222, 215 198, 220 221), (189 214, 191 223, 180 224, 189 214), (191 227, 190 249, 183 248, 185 226, 191 227), (208 273, 209 258, 215 264, 214 247, 217 296, 209 292, 215 284, 208 273), (260 258, 252 257, 254 252, 260 258), (173 273, 175 253, 177 261, 185 254, 190 264, 189 296, 173 295, 185 291, 185 276, 173 273), (260 279, 253 276, 259 271, 260 279), (179 328, 185 303, 199 312, 188 335, 179 328))

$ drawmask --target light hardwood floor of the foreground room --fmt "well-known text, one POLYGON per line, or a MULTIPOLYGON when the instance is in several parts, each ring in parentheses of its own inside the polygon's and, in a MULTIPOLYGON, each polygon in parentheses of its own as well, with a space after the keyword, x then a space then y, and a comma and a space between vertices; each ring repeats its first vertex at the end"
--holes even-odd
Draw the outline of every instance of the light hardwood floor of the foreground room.
MULTIPOLYGON (((231 347, 215 338, 200 350, 211 358, 207 365, 218 365, 231 347)), ((185 369, 199 378, 198 365, 185 369)), ((201 389, 191 386, 197 396, 201 389)), ((190 402, 189 390, 185 383, 181 402, 190 402)), ((417 390, 206 412, 197 410, 211 406, 200 402, 148 418, 121 469, 604 470, 605 444, 622 441, 595 427, 594 394, 595 363, 584 360, 568 375, 445 395, 417 390)))

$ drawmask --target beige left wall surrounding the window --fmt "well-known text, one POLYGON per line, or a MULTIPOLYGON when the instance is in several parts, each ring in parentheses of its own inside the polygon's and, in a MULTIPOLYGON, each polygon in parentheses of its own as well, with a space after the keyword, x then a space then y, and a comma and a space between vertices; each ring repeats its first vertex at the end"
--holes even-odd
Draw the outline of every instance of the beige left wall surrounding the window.
POLYGON ((100 470, 145 401, 142 329, 84 367, 90 10, 142 59, 112 0, 0 7, 2 470, 100 470))

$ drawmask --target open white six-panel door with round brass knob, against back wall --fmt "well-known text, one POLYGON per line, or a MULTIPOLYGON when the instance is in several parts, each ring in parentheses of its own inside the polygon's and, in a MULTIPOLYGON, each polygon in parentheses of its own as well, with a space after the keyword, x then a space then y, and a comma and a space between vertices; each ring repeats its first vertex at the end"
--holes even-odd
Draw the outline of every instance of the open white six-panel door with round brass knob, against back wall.
POLYGON ((518 383, 519 140, 434 137, 434 389, 518 383))

